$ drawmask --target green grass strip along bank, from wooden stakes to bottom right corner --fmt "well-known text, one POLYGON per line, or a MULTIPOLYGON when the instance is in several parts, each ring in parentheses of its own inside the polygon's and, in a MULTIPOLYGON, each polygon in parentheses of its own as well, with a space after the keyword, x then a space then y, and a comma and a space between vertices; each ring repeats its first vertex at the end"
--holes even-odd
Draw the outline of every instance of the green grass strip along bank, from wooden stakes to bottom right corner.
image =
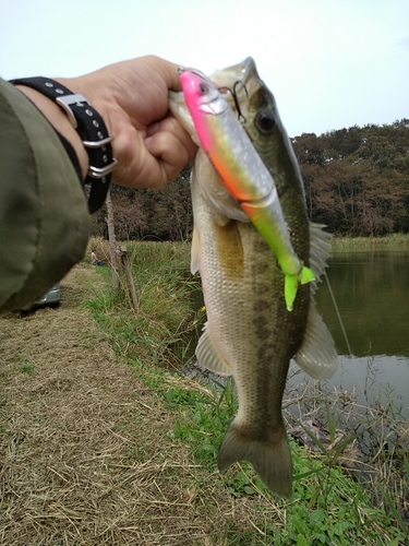
MULTIPOLYGON (((386 474, 378 476, 383 489, 377 486, 375 498, 370 490, 374 482, 368 488, 364 482, 353 479, 340 464, 341 448, 353 442, 352 432, 342 444, 333 449, 310 432, 317 448, 314 453, 290 440, 294 483, 289 501, 272 496, 245 462, 225 474, 215 472, 218 446, 238 403, 231 380, 226 384, 204 384, 178 373, 191 349, 189 340, 197 334, 204 320, 203 310, 195 310, 191 297, 197 288, 197 281, 189 274, 189 250, 183 244, 128 244, 140 312, 131 310, 123 283, 119 294, 112 294, 108 268, 96 270, 106 282, 85 305, 118 357, 132 365, 135 375, 175 414, 175 429, 169 430, 168 436, 185 443, 195 463, 208 471, 208 479, 214 480, 213 495, 218 490, 221 497, 227 491, 237 501, 250 502, 254 532, 245 532, 239 537, 226 527, 222 530, 225 542, 217 544, 408 544, 407 524, 398 509, 397 492, 389 488, 386 474)), ((322 395, 318 393, 317 396, 322 395)), ((337 406, 322 397, 315 404, 323 408, 334 441, 338 426, 337 406)), ((409 479, 408 459, 404 454, 400 460, 409 479)), ((392 467, 396 461, 389 463, 392 467)), ((386 472, 387 467, 384 470, 386 472)), ((373 472, 380 472, 375 460, 373 472)), ((202 501, 205 506, 206 499, 202 501)), ((220 539, 221 531, 217 531, 220 539)))

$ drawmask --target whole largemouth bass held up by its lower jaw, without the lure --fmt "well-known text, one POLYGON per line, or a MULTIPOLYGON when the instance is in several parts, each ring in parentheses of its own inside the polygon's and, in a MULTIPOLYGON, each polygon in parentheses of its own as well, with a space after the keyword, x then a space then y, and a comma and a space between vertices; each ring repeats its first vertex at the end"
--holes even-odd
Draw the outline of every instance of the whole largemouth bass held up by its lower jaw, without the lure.
MULTIPOLYGON (((315 276, 300 285, 289 312, 275 253, 199 147, 191 175, 191 271, 201 275, 207 322, 195 354, 208 370, 233 377, 239 401, 217 465, 224 472, 249 461, 267 489, 290 498, 292 460, 281 413, 290 360, 317 379, 329 378, 337 368, 334 340, 314 302, 329 235, 308 218, 291 143, 254 60, 216 71, 209 79, 220 87, 237 81, 245 85, 246 94, 237 94, 244 130, 275 181, 292 248, 315 276)), ((181 92, 170 92, 169 108, 200 145, 181 92)))

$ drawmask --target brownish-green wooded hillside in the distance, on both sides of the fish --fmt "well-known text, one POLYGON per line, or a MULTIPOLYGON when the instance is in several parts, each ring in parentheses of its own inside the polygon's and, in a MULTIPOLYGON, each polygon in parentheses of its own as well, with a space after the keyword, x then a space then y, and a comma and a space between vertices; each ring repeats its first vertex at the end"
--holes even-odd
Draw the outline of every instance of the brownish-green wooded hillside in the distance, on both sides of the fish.
MULTIPOLYGON (((305 186, 308 213, 338 236, 409 233, 409 119, 291 139, 305 186)), ((119 240, 185 240, 193 214, 191 166, 160 191, 111 190, 119 240)), ((93 234, 107 235, 106 212, 93 234)))

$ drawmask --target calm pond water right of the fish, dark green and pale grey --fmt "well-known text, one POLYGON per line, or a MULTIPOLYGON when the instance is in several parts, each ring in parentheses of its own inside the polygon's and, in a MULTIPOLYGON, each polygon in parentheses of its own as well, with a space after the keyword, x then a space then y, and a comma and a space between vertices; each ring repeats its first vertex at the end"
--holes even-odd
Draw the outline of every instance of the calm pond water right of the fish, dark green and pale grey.
POLYGON ((409 249, 334 253, 327 277, 345 331, 324 280, 316 306, 339 363, 327 384, 363 404, 393 399, 409 417, 409 249))

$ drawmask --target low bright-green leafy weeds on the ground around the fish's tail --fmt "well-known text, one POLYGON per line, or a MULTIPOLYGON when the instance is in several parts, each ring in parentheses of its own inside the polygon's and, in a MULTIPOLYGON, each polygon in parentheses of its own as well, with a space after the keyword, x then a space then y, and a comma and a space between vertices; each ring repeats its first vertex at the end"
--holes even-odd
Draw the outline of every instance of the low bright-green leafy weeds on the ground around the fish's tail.
MULTIPOLYGON (((181 412, 170 438, 181 439, 193 451, 196 463, 214 471, 218 446, 237 412, 232 383, 212 394, 199 390, 173 387, 164 391, 170 410, 181 412)), ((352 442, 349 437, 344 447, 352 442)), ((286 520, 282 527, 274 521, 264 525, 269 542, 265 544, 400 544, 405 538, 405 523, 395 511, 375 507, 364 487, 345 474, 339 464, 342 444, 326 449, 317 438, 321 452, 309 452, 290 440, 294 484, 290 501, 276 500, 275 509, 286 520), (387 513, 390 512, 390 513, 387 513), (400 522, 398 521, 400 518, 400 522)), ((270 495, 260 482, 251 465, 241 463, 219 475, 220 489, 231 497, 253 499, 253 505, 270 495)), ((385 497, 386 498, 386 497, 385 497)), ((390 499, 390 506, 394 506, 390 499)))

